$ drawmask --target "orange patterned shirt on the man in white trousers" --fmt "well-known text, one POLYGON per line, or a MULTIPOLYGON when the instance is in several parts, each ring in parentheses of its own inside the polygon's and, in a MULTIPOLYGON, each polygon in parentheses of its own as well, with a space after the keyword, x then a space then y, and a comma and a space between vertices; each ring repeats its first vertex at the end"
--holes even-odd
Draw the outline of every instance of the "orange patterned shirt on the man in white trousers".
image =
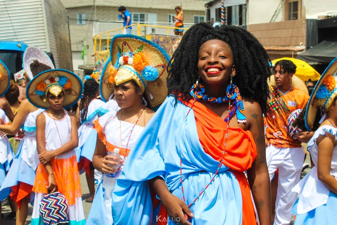
POLYGON ((265 132, 270 144, 280 148, 301 147, 301 142, 288 133, 287 118, 294 110, 303 109, 308 100, 309 95, 297 88, 283 93, 277 87, 271 87, 265 116, 265 132))

